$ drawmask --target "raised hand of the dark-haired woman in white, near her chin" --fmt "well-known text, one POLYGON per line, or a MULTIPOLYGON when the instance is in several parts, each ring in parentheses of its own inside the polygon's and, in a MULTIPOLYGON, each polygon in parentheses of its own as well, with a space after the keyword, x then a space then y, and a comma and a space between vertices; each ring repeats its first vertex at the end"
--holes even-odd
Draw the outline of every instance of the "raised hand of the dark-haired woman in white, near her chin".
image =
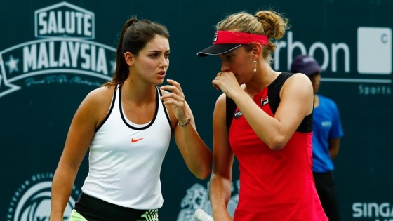
POLYGON ((161 96, 161 100, 164 100, 165 105, 173 105, 173 112, 175 113, 176 119, 180 123, 184 123, 188 120, 186 111, 185 95, 180 87, 180 83, 167 79, 166 82, 171 85, 161 86, 161 89, 166 91, 172 91, 161 96))

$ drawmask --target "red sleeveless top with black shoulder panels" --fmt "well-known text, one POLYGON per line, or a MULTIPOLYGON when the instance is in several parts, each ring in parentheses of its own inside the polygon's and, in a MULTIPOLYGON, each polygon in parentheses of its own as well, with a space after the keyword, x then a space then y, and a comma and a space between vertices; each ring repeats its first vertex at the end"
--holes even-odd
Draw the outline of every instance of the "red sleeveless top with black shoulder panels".
MULTIPOLYGON (((279 89, 290 76, 281 73, 254 96, 255 103, 270 116, 274 116, 278 107, 279 89)), ((312 123, 311 127, 307 123, 312 115, 306 116, 279 151, 271 150, 258 138, 238 108, 233 116, 229 142, 240 171, 239 203, 234 220, 328 220, 312 177, 312 123)))

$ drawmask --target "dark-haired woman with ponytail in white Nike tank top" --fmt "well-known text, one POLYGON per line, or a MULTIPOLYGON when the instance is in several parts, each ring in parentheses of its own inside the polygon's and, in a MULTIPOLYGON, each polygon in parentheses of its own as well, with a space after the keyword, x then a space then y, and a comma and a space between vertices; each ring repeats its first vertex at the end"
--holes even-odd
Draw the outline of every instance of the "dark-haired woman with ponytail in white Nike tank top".
POLYGON ((71 220, 158 220, 159 175, 174 139, 196 178, 211 173, 211 151, 196 131, 180 84, 167 79, 166 27, 131 18, 122 29, 112 81, 76 111, 52 185, 51 221, 62 220, 89 149, 89 172, 71 220))

